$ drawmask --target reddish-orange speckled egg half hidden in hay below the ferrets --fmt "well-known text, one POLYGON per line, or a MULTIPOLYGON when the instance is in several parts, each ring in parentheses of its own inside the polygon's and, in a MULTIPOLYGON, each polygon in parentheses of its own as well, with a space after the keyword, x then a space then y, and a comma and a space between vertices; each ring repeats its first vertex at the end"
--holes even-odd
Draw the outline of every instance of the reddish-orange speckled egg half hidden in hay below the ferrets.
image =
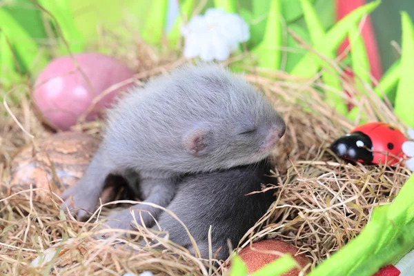
MULTIPOLYGON (((298 248, 292 246, 286 242, 279 242, 272 239, 263 240, 261 242, 255 242, 252 245, 255 250, 252 250, 250 246, 246 246, 240 250, 239 257, 242 258, 243 262, 247 266, 248 273, 253 273, 256 270, 259 270, 266 264, 273 262, 275 259, 279 258, 279 255, 264 253, 260 251, 277 251, 283 254, 290 254, 293 259, 304 268, 309 264, 309 259, 304 254, 296 255, 299 251, 298 248)), ((297 276, 299 275, 299 270, 293 268, 287 273, 282 274, 282 276, 297 276)))

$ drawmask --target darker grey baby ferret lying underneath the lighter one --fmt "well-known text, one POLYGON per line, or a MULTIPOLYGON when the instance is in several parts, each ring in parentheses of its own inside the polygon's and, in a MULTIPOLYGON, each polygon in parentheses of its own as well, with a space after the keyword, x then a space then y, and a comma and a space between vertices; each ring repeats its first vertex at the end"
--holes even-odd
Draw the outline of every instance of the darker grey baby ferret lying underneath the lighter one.
MULTIPOLYGON (((235 248, 245 233, 266 213, 275 200, 275 190, 261 191, 262 184, 275 186, 271 176, 272 163, 264 159, 257 164, 185 177, 168 210, 186 225, 201 253, 208 259, 208 229, 212 226, 212 255, 226 260, 227 240, 235 248), (252 192, 253 193, 248 195, 252 192)), ((191 253, 195 249, 184 227, 170 214, 163 212, 157 220, 169 239, 191 253)), ((159 230, 153 226, 153 230, 159 230)))

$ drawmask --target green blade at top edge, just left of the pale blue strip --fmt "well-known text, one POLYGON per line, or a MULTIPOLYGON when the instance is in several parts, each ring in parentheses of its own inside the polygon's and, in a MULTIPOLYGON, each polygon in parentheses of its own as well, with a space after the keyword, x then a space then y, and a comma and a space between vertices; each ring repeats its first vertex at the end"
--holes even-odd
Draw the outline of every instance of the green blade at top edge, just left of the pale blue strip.
POLYGON ((161 42, 164 34, 168 0, 152 0, 151 2, 141 37, 148 43, 157 44, 161 42))

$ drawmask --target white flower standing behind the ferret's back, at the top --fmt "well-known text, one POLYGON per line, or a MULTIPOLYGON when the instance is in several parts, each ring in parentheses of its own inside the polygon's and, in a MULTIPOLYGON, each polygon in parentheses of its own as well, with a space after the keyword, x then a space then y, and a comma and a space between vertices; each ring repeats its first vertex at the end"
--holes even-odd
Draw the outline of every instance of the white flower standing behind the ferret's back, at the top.
POLYGON ((237 14, 209 8, 204 16, 196 15, 181 28, 186 43, 184 57, 199 56, 204 61, 224 61, 239 43, 250 38, 248 24, 237 14))

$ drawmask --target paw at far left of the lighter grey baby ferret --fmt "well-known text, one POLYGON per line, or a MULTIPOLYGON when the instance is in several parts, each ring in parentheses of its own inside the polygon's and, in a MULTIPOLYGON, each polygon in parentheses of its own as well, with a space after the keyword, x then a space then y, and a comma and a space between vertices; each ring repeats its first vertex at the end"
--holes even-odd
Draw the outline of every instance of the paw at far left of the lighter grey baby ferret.
POLYGON ((61 204, 61 208, 70 211, 70 213, 79 220, 84 220, 90 213, 93 213, 99 201, 99 195, 96 196, 88 193, 79 185, 72 186, 68 188, 68 190, 65 190, 61 194, 61 198, 65 201, 64 204, 61 204))

